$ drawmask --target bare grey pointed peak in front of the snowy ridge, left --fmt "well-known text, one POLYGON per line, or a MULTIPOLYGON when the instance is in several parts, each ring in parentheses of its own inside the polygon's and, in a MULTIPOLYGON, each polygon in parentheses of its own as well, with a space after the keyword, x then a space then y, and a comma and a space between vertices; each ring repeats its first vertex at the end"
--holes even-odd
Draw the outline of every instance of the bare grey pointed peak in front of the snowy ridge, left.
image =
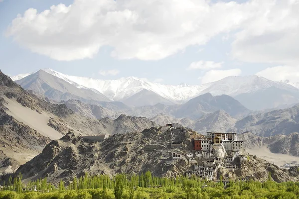
MULTIPOLYGON (((57 78, 49 73, 39 70, 21 80, 16 81, 22 88, 33 90, 34 92, 43 94, 45 97, 55 100, 82 100, 88 101, 110 101, 103 94, 94 92, 87 88, 77 88, 76 85, 57 78)), ((77 85, 79 86, 79 85, 77 85)))

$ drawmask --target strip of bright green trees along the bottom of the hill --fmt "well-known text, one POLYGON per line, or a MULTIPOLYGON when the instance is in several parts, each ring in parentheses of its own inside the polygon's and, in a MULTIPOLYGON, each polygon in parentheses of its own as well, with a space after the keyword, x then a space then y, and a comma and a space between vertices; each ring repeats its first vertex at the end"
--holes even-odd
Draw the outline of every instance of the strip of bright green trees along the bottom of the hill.
POLYGON ((140 176, 119 174, 85 176, 70 182, 60 181, 57 187, 47 179, 21 183, 22 175, 8 179, 0 199, 298 199, 299 183, 264 183, 200 180, 196 177, 160 178, 150 172, 140 176), (66 185, 66 186, 65 186, 66 185), (34 191, 36 187, 37 191, 34 191))

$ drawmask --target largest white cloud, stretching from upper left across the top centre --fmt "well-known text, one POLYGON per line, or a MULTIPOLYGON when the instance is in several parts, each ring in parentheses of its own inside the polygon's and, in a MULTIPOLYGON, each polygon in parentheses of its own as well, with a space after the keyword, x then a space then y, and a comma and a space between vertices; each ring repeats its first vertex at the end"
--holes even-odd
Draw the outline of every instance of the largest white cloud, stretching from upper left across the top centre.
POLYGON ((159 60, 239 28, 257 3, 210 0, 74 0, 18 15, 7 35, 55 60, 92 58, 103 46, 113 57, 159 60), (225 17, 223 17, 225 16, 225 17))

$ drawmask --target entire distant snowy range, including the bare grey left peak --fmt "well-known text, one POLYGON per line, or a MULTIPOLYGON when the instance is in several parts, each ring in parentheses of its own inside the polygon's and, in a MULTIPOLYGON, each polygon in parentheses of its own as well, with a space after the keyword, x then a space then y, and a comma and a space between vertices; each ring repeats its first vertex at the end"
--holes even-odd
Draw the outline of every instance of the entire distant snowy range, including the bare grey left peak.
POLYGON ((39 75, 39 73, 42 73, 43 76, 45 74, 40 71, 30 74, 20 74, 11 78, 23 88, 38 92, 41 91, 46 94, 46 97, 52 100, 67 100, 71 98, 71 95, 74 95, 74 99, 89 100, 89 103, 97 103, 99 100, 104 100, 121 101, 129 106, 154 105, 155 103, 172 105, 185 103, 192 98, 210 93, 213 96, 231 96, 251 110, 281 108, 299 102, 299 89, 292 86, 291 83, 274 82, 258 76, 231 76, 203 85, 181 84, 172 86, 152 83, 134 77, 118 80, 97 80, 65 75, 51 69, 42 69, 42 71, 59 78, 60 82, 64 81, 63 85, 68 83, 77 89, 83 89, 84 91, 78 92, 79 94, 86 93, 88 88, 97 95, 89 93, 89 95, 82 98, 82 95, 74 93, 75 89, 73 87, 71 88, 68 85, 65 88, 69 89, 64 89, 63 87, 62 89, 61 87, 57 87, 57 84, 49 81, 54 80, 53 77, 41 77, 42 75, 39 75), (41 79, 42 81, 37 81, 37 79, 41 79), (42 86, 45 83, 50 88, 42 86), (51 92, 54 92, 54 94, 51 94, 51 92), (100 99, 100 96, 102 99, 100 99))

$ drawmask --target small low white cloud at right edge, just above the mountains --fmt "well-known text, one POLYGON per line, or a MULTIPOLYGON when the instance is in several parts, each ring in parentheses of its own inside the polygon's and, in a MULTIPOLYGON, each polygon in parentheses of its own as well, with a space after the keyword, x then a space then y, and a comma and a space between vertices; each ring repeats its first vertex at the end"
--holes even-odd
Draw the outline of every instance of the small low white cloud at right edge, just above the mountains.
POLYGON ((257 76, 267 78, 272 81, 299 82, 299 67, 294 66, 276 66, 269 67, 256 74, 257 76))

